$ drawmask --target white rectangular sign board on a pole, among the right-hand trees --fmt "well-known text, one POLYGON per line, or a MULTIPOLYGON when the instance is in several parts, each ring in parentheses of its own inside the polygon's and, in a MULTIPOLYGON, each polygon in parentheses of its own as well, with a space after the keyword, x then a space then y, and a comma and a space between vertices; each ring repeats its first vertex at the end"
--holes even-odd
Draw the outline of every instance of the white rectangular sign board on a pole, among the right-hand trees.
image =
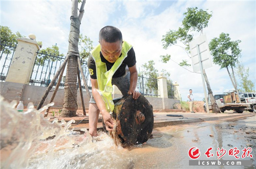
POLYGON ((197 39, 195 39, 189 43, 190 54, 191 54, 191 59, 192 59, 192 66, 193 66, 194 72, 200 71, 200 63, 199 63, 197 45, 199 48, 199 53, 200 53, 203 69, 212 67, 212 59, 211 59, 211 55, 210 55, 209 46, 208 46, 208 43, 206 40, 206 35, 201 35, 200 37, 198 37, 197 39))

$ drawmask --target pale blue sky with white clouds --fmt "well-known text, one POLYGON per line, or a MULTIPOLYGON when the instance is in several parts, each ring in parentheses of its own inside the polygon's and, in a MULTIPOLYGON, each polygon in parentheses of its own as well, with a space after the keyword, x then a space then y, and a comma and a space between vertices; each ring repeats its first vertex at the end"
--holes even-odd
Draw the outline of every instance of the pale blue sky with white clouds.
MULTIPOLYGON (((36 35, 43 48, 57 44, 61 53, 68 51, 71 1, 5 1, 1 4, 1 25, 22 35, 36 35)), ((79 5, 80 7, 80 5, 79 5)), ((203 100, 202 76, 193 68, 180 67, 177 63, 191 59, 178 45, 163 49, 162 36, 181 26, 187 8, 212 11, 208 27, 204 29, 207 41, 228 33, 232 41, 241 40, 239 61, 249 67, 249 79, 256 82, 256 2, 255 1, 87 1, 80 25, 80 34, 88 36, 93 46, 98 44, 98 33, 106 25, 118 27, 123 39, 133 45, 137 70, 150 60, 161 72, 170 73, 177 81, 182 100, 186 101, 189 89, 195 100, 203 100), (160 62, 160 55, 170 54, 167 63, 160 62)), ((194 33, 194 38, 200 33, 194 33)), ((214 94, 233 90, 226 69, 213 64, 205 69, 214 94)))

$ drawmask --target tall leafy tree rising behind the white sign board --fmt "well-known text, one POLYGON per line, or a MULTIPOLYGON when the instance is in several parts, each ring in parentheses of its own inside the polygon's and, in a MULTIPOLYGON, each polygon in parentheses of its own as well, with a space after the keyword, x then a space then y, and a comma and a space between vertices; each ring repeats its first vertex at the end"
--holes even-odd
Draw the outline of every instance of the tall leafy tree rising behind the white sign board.
MULTIPOLYGON (((184 13, 184 19, 182 20, 181 27, 178 28, 177 31, 169 30, 162 39, 163 48, 167 49, 168 47, 172 45, 177 45, 178 42, 181 42, 180 46, 183 48, 188 57, 190 57, 189 53, 189 42, 191 42, 194 38, 193 32, 200 32, 203 33, 203 29, 208 26, 209 19, 212 16, 212 12, 207 12, 207 9, 204 11, 202 9, 198 10, 197 7, 195 8, 187 8, 187 12, 184 13)), ((163 63, 167 63, 171 56, 169 54, 160 56, 163 63)), ((190 64, 187 63, 186 60, 182 60, 181 63, 179 63, 181 67, 184 68, 184 66, 190 66, 190 64)), ((214 95, 212 94, 212 90, 210 88, 210 83, 207 78, 207 75, 205 73, 205 70, 203 70, 204 79, 207 85, 208 93, 210 96, 210 100, 212 103, 212 108, 214 112, 217 112, 217 104, 214 99, 214 95)))

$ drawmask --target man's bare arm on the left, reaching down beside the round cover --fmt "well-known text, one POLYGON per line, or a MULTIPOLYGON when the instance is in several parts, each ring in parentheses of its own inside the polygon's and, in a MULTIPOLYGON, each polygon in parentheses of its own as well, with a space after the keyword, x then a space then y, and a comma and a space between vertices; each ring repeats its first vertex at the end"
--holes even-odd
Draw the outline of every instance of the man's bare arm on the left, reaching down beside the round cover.
POLYGON ((112 131, 113 127, 114 127, 114 121, 110 116, 110 113, 108 112, 108 110, 106 110, 106 106, 105 106, 105 102, 103 101, 103 99, 101 98, 98 90, 98 82, 97 79, 92 79, 91 78, 91 82, 92 82, 92 94, 94 97, 94 100, 96 101, 96 104, 101 112, 103 121, 106 125, 106 130, 108 131, 112 131))

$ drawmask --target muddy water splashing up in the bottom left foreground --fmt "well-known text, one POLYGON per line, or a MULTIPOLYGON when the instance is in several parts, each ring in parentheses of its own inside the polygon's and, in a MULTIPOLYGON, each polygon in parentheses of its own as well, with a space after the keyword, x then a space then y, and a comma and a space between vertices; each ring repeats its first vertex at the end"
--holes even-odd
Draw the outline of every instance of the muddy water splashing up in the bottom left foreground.
POLYGON ((123 149, 116 147, 113 139, 103 132, 92 139, 87 130, 85 135, 69 130, 74 120, 59 123, 57 119, 53 122, 45 119, 40 112, 54 103, 39 110, 29 103, 26 112, 18 112, 16 101, 6 102, 2 96, 0 101, 1 168, 106 167, 109 160, 116 160, 120 155, 113 152, 123 149), (102 162, 95 164, 99 158, 102 162))

